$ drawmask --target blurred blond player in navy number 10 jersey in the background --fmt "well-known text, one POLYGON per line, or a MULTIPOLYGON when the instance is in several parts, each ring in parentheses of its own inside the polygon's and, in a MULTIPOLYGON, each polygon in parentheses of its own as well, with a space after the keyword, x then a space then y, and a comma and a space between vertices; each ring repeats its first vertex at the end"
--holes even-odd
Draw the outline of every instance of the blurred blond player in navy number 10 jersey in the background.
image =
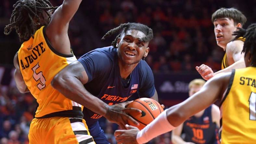
MULTIPOLYGON (((204 84, 203 79, 192 80, 188 85, 189 97, 198 92, 204 84)), ((212 104, 173 129, 172 142, 173 144, 218 144, 219 127, 220 110, 218 106, 212 104), (181 138, 181 132, 185 133, 184 140, 181 138)))

